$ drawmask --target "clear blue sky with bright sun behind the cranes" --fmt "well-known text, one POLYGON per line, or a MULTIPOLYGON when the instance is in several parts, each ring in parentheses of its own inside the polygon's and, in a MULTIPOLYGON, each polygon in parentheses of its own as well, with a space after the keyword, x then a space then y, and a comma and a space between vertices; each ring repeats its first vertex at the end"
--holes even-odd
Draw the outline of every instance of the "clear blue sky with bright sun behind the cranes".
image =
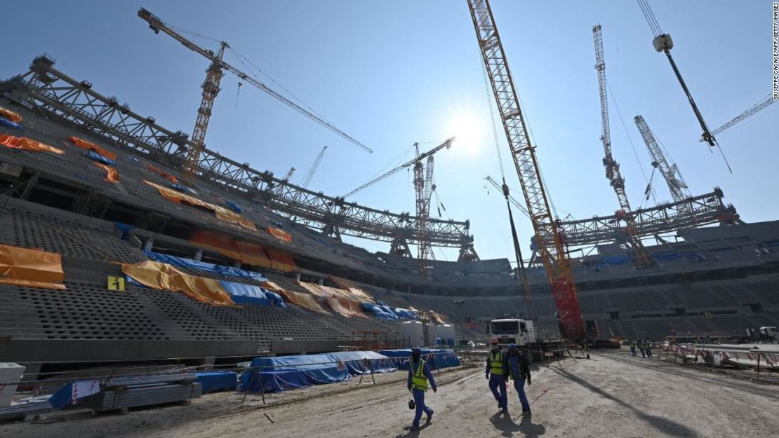
MULTIPOLYGON (((711 128, 767 96, 770 1, 650 3, 664 32, 674 38, 675 60, 711 128)), ((464 0, 11 2, 3 7, 0 77, 26 72, 45 52, 63 72, 93 82, 100 93, 118 96, 167 128, 191 132, 207 62, 170 37, 155 35, 137 18, 139 6, 167 23, 227 40, 375 153, 362 152, 249 86, 242 87, 236 103, 238 81, 231 75, 224 77, 214 106, 206 137, 211 149, 277 175, 295 166, 293 182, 300 182, 319 149, 329 145, 310 187, 344 194, 412 143, 460 134, 463 140, 436 156, 439 196, 452 219, 471 219, 482 258, 513 254, 505 204, 492 187, 488 194, 483 180, 488 174, 500 177, 488 110, 493 103, 485 93, 464 0)), ((693 112, 668 61, 652 48, 636 2, 495 0, 492 8, 556 208, 577 218, 617 208, 601 166, 591 32, 601 23, 613 91, 612 145, 633 205, 643 200, 642 170, 647 176, 651 171, 633 124, 633 116, 643 114, 693 194, 720 186, 746 221, 779 219, 779 104, 718 136, 731 175, 719 154, 697 141, 693 112)), ((226 60, 238 64, 231 54, 226 60)), ((509 185, 521 199, 502 128, 499 141, 509 185)), ((661 179, 654 187, 657 201, 671 199, 661 179)), ((398 173, 354 200, 413 212, 411 177, 398 173)), ((527 251, 530 223, 518 216, 527 251)), ((359 242, 372 251, 388 247, 359 242)))

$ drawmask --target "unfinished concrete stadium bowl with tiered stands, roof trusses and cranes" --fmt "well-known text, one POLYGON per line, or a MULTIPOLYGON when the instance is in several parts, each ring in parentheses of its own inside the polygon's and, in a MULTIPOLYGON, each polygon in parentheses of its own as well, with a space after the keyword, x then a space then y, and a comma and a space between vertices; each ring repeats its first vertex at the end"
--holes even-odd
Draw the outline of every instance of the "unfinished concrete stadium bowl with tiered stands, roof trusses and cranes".
MULTIPOLYGON (((538 175, 549 164, 539 165, 530 145, 492 11, 483 0, 468 4, 523 197, 488 180, 534 225, 527 259, 516 235, 516 254, 481 259, 468 220, 431 217, 438 149, 417 148, 398 167, 414 172, 410 214, 293 184, 294 169, 278 177, 238 163, 217 152, 218 139, 206 148, 221 75, 252 78, 224 63, 224 46, 205 51, 141 9, 152 30, 211 61, 192 135, 72 78, 45 55, 0 82, 0 363, 19 363, 23 380, 43 381, 138 364, 208 368, 422 344, 449 351, 487 342, 499 318, 532 321, 538 345, 743 339, 779 325, 779 220, 745 223, 718 187, 689 193, 640 116, 636 125, 674 200, 630 209, 611 156, 605 82, 604 165, 622 208, 553 217, 538 175), (386 251, 343 236, 382 241, 386 251), (459 258, 435 260, 433 247, 459 258)), ((710 142, 717 132, 703 125, 710 142)))

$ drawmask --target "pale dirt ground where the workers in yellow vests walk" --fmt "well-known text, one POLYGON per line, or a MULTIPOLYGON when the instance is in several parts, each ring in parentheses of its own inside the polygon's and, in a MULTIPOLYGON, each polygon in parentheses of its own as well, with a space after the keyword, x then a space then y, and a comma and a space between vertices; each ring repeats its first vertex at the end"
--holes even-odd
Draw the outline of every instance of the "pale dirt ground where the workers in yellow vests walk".
MULTIPOLYGON (((191 405, 131 410, 127 415, 62 412, 34 424, 0 423, 0 436, 111 436, 112 438, 288 436, 777 436, 779 387, 705 373, 629 352, 594 351, 591 360, 568 359, 562 369, 539 366, 527 387, 533 415, 520 417, 509 394, 509 415, 498 412, 484 370, 462 368, 435 374, 439 391, 428 391, 432 423, 409 426, 404 373, 377 378, 379 385, 343 384, 289 391, 269 397, 207 394, 191 405), (273 422, 268 418, 269 415, 273 422)), ((423 420, 424 421, 424 420, 423 420)))

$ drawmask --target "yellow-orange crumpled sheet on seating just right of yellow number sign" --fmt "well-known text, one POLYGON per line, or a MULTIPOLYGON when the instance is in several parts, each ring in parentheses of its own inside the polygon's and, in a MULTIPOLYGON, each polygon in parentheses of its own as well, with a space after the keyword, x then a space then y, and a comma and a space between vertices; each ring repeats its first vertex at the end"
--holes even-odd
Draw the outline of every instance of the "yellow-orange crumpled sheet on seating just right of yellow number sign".
POLYGON ((224 291, 218 280, 185 274, 165 263, 141 261, 135 265, 122 265, 122 272, 152 289, 181 292, 201 303, 235 306, 230 294, 224 291))

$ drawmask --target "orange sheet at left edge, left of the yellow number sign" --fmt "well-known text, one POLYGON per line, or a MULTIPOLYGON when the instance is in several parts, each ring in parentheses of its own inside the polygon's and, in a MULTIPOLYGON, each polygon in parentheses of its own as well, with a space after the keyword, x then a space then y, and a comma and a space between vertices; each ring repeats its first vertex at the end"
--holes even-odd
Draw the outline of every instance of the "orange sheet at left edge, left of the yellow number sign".
POLYGON ((64 279, 60 254, 0 245, 0 283, 65 289, 64 279))

